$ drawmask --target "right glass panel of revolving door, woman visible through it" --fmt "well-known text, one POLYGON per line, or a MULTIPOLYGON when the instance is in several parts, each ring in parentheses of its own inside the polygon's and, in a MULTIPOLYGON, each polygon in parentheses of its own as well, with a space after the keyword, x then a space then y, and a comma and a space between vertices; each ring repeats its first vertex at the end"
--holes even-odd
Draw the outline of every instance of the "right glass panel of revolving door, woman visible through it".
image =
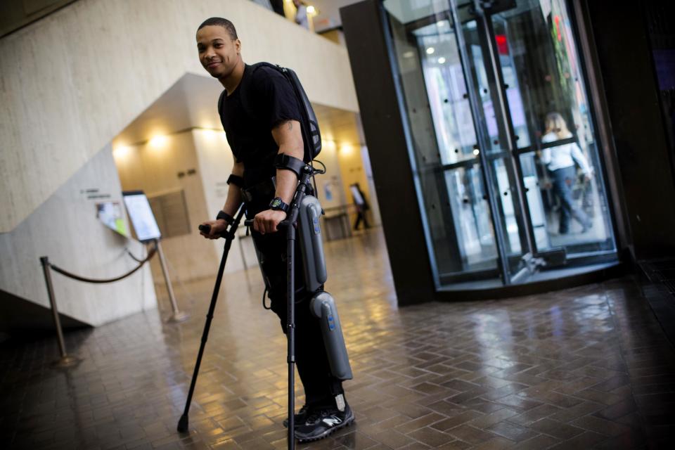
POLYGON ((563 0, 518 0, 489 16, 536 252, 567 262, 613 255, 615 240, 591 107, 563 0))

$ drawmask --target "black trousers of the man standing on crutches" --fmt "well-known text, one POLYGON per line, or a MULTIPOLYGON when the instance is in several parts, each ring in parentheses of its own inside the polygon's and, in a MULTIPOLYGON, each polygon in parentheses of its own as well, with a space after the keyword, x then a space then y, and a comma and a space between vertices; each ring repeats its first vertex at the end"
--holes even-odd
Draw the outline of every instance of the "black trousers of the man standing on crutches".
MULTIPOLYGON (((268 288, 271 309, 286 333, 287 320, 287 243, 283 231, 260 234, 252 231, 258 259, 268 288)), ((295 362, 308 406, 335 406, 335 396, 344 394, 342 381, 330 373, 319 320, 311 315, 309 302, 314 293, 304 286, 300 243, 295 241, 295 362)))

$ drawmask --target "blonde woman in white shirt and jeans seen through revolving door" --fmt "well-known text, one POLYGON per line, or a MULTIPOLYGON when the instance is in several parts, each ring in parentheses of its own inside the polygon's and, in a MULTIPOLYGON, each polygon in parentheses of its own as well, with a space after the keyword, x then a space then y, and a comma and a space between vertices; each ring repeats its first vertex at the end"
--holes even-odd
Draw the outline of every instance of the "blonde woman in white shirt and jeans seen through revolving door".
MULTIPOLYGON (((546 115, 546 131, 541 138, 542 143, 560 141, 571 138, 572 132, 567 129, 567 123, 560 113, 548 113, 546 115)), ((574 217, 581 224, 581 233, 589 231, 593 225, 591 218, 574 204, 572 198, 572 186, 577 179, 577 162, 587 181, 593 178, 593 169, 588 160, 581 153, 581 148, 576 142, 566 143, 562 146, 544 148, 541 151, 541 162, 546 165, 553 178, 553 193, 560 198, 560 226, 558 232, 567 234, 570 232, 570 217, 574 217)))

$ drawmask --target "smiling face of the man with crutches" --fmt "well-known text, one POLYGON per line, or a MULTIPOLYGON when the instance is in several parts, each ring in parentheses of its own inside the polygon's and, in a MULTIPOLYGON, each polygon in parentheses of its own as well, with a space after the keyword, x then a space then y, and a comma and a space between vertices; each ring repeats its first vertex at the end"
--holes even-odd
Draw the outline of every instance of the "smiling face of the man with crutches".
POLYGON ((197 51, 202 66, 212 77, 226 79, 241 60, 241 42, 232 39, 220 25, 207 25, 197 32, 197 51))

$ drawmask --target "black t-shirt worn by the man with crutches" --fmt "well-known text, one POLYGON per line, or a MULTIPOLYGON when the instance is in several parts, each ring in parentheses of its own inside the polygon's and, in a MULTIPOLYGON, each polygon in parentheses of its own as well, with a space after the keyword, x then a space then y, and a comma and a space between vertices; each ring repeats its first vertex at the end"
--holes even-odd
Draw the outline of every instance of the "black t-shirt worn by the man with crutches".
POLYGON ((234 159, 244 163, 244 184, 250 187, 276 175, 279 147, 271 130, 285 120, 300 122, 300 105, 293 86, 277 70, 246 65, 239 86, 223 99, 221 118, 234 159), (244 83, 246 77, 252 78, 244 83))

